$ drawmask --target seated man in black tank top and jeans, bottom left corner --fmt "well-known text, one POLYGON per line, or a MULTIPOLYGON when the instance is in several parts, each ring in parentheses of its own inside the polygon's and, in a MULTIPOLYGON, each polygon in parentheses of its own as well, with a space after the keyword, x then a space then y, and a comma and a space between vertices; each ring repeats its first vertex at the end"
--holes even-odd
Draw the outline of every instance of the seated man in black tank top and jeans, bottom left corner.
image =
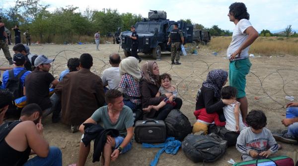
POLYGON ((28 104, 20 120, 1 125, 1 166, 62 166, 61 150, 43 138, 41 115, 37 104, 28 104), (33 154, 37 156, 28 160, 33 154))

